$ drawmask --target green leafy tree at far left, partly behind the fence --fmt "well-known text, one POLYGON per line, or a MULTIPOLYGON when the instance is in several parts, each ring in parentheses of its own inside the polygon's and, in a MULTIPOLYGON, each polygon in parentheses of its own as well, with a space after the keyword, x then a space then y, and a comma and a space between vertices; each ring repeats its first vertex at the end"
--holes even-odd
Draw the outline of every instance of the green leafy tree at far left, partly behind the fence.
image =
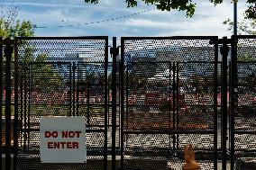
MULTIPOLYGON (((14 37, 32 37, 34 36, 34 25, 30 21, 20 21, 17 19, 19 12, 19 7, 12 4, 10 7, 4 5, 0 6, 0 37, 3 39, 14 37)), ((49 56, 47 54, 41 53, 33 58, 35 49, 26 43, 26 40, 20 41, 19 46, 25 48, 23 58, 20 62, 23 63, 23 66, 28 66, 32 62, 44 62, 47 61, 49 56)), ((12 77, 14 77, 14 53, 12 57, 12 77)), ((5 67, 5 58, 4 63, 5 67)), ((62 77, 58 72, 53 70, 53 67, 50 65, 32 65, 32 73, 38 73, 35 77, 34 85, 40 85, 41 81, 47 83, 47 85, 60 85, 62 83, 62 77)), ((5 86, 5 69, 3 70, 4 77, 4 86, 5 86)), ((33 74, 36 75, 36 74, 33 74)), ((13 82, 13 81, 12 81, 13 82)), ((13 84, 14 85, 14 84, 13 84)))

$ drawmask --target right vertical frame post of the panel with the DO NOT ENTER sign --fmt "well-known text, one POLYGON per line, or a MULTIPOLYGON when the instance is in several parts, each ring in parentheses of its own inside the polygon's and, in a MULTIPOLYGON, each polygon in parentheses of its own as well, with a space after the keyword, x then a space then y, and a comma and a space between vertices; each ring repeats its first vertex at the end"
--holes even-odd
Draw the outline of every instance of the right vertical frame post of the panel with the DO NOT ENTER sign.
POLYGON ((107 169, 107 113, 108 113, 108 80, 107 80, 107 71, 108 71, 108 38, 105 39, 105 95, 104 95, 104 105, 105 105, 105 127, 104 127, 104 138, 105 138, 105 142, 104 142, 104 169, 107 169))

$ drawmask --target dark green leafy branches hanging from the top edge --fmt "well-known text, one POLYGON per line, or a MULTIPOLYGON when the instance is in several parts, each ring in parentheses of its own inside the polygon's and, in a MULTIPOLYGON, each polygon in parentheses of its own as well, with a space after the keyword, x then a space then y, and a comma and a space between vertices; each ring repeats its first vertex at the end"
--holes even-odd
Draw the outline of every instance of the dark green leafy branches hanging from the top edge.
MULTIPOLYGON (((142 0, 145 4, 154 4, 161 11, 170 11, 176 9, 178 11, 187 12, 187 16, 191 17, 195 13, 195 0, 142 0)), ((209 0, 213 4, 222 4, 224 0, 209 0)), ((231 0, 237 2, 238 0, 231 0)), ((97 4, 99 0, 85 0, 86 3, 97 4)), ((137 6, 137 0, 125 0, 127 7, 137 6)), ((248 9, 245 11, 246 16, 250 19, 256 19, 256 0, 247 0, 248 9)))

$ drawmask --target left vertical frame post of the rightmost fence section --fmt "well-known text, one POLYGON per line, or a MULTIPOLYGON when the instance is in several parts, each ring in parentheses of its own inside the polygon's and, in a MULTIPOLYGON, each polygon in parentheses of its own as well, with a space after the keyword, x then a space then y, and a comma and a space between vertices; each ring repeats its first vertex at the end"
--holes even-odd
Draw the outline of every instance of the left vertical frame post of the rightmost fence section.
POLYGON ((230 157, 231 170, 234 169, 234 114, 237 100, 237 40, 232 37, 231 84, 230 84, 230 157), (236 89, 236 90, 235 90, 236 89))

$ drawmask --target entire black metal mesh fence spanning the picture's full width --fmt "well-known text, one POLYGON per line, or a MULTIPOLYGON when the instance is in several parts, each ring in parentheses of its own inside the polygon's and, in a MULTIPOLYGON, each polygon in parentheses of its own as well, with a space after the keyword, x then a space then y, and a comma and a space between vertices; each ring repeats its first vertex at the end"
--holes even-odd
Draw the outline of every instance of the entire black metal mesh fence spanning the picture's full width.
POLYGON ((255 169, 255 40, 0 40, 0 166, 181 169, 191 143, 201 169, 255 169), (41 163, 45 116, 86 118, 87 163, 41 163))

